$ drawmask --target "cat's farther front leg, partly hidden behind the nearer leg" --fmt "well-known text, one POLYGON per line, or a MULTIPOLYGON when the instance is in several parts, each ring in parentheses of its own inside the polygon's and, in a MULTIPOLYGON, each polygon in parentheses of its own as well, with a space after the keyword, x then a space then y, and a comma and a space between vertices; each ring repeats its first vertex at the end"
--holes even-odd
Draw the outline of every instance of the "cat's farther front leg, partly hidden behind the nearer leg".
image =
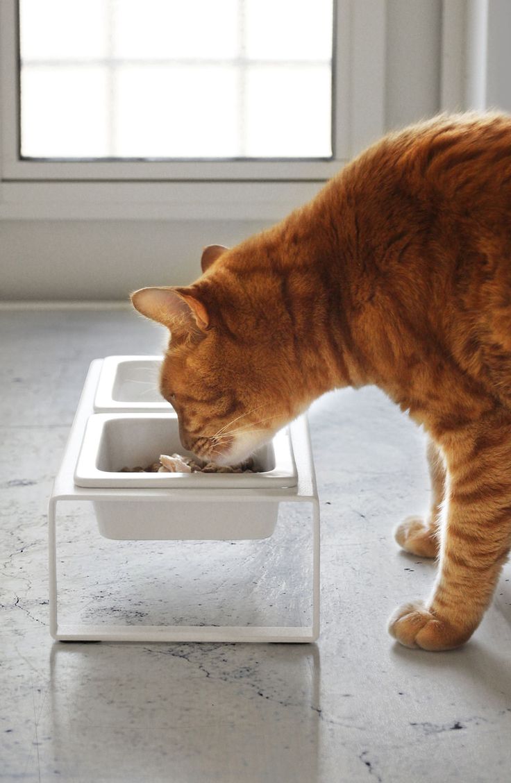
POLYGON ((394 529, 394 538, 406 552, 419 557, 437 557, 440 504, 445 495, 445 466, 440 449, 431 439, 428 440, 426 455, 432 495, 429 517, 426 521, 422 517, 407 517, 394 529))

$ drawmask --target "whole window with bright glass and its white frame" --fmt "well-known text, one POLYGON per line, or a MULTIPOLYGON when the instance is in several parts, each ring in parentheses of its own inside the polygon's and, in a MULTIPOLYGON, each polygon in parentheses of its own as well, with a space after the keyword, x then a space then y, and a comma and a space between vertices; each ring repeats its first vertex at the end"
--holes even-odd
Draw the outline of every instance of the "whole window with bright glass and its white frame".
POLYGON ((0 218, 265 221, 382 132, 386 0, 0 0, 0 218))

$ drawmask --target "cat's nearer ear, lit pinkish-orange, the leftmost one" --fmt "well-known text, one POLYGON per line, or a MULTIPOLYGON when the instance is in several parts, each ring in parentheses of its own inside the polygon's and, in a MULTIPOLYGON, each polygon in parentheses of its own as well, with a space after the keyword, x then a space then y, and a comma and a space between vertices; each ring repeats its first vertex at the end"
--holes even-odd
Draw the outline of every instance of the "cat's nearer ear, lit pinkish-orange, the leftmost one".
POLYGON ((193 288, 140 288, 131 301, 143 316, 170 330, 195 325, 204 331, 209 327, 208 311, 194 293, 193 288))

